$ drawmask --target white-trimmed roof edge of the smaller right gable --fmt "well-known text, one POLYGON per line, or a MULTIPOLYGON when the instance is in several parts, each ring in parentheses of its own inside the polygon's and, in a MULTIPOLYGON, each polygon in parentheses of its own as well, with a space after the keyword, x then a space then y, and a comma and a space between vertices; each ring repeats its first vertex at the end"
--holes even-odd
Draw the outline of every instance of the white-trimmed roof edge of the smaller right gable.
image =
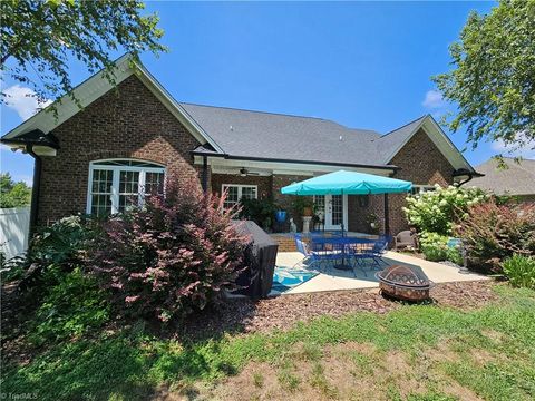
POLYGON ((431 139, 435 146, 440 150, 444 157, 446 157, 446 159, 451 164, 451 166, 454 166, 455 169, 467 168, 468 170, 474 172, 474 167, 470 166, 468 160, 463 156, 459 149, 457 149, 451 139, 448 138, 442 128, 440 128, 437 121, 435 121, 435 119, 429 115, 426 116, 426 118, 424 118, 420 124, 416 126, 412 133, 407 136, 406 140, 383 160, 385 164, 390 163, 393 157, 396 157, 396 155, 408 144, 408 141, 412 139, 420 128, 424 129, 429 139, 431 139))

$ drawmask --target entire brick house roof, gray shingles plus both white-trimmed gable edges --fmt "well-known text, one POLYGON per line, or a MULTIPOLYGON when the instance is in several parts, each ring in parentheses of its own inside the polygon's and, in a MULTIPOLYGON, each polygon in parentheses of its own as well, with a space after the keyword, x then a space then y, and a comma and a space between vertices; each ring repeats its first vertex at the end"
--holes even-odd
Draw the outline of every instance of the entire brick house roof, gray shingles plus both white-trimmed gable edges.
MULTIPOLYGON (((348 128, 331 120, 313 117, 242 110, 177 102, 153 75, 129 55, 116 61, 115 82, 136 75, 187 130, 216 155, 254 157, 339 165, 390 166, 392 158, 422 128, 448 162, 456 168, 474 168, 449 140, 431 116, 422 116, 383 136, 370 129, 348 128)), ((74 89, 82 107, 114 89, 104 72, 97 72, 74 89)), ((30 131, 50 133, 80 111, 69 95, 55 102, 58 117, 50 107, 39 111, 4 135, 2 139, 30 131)), ((6 140, 7 141, 7 140, 6 140)))

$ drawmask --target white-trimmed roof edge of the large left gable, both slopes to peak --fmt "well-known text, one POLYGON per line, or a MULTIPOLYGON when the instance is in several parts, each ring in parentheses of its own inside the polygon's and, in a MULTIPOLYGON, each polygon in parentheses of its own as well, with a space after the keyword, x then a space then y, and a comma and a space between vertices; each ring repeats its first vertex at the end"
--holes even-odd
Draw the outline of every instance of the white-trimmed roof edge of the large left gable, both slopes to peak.
MULTIPOLYGON (((119 85, 133 74, 136 74, 137 68, 137 77, 139 80, 189 130, 195 139, 203 145, 208 143, 214 147, 214 149, 223 153, 221 147, 210 137, 210 135, 207 135, 206 131, 204 131, 201 126, 198 126, 198 124, 186 113, 186 110, 184 110, 184 108, 178 105, 175 99, 173 99, 173 97, 140 62, 136 62, 135 67, 133 68, 128 56, 129 55, 125 55, 115 62, 116 85, 119 85)), ((101 71, 99 71, 78 85, 72 91, 75 97, 80 101, 81 106, 87 107, 111 89, 114 89, 114 85, 108 81, 101 71)), ((40 129, 45 134, 48 134, 81 110, 69 95, 64 95, 59 100, 55 101, 55 104, 58 118, 55 118, 54 113, 50 113, 49 106, 13 128, 11 131, 4 135, 3 138, 11 139, 33 129, 40 129)))

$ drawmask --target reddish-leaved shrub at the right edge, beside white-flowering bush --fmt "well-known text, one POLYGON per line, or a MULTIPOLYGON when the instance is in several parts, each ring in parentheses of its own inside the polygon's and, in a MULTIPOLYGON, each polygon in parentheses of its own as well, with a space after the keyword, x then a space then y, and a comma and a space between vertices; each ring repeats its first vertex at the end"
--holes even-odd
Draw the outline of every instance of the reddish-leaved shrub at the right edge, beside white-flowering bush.
POLYGON ((463 238, 470 266, 497 272, 513 254, 535 254, 535 206, 494 200, 474 205, 456 235, 463 238))

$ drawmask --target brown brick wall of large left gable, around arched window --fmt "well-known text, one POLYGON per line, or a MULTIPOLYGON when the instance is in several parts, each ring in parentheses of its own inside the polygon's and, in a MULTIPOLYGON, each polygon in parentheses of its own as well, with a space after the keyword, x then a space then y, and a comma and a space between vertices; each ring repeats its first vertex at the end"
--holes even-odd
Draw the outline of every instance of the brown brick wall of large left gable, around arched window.
POLYGON ((181 179, 198 178, 191 150, 198 141, 132 76, 52 133, 61 148, 42 157, 39 223, 86 212, 89 162, 138 158, 163 164, 181 179))

